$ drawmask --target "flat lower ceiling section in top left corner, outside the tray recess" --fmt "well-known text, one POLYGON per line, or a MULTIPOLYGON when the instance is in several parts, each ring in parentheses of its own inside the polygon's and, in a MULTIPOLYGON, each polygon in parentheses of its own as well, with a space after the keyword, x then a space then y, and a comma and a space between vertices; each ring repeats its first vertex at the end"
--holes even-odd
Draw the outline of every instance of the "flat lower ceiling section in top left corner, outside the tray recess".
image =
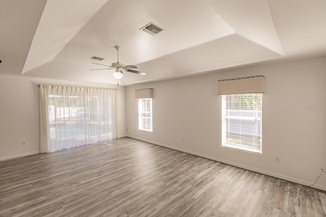
POLYGON ((0 1, 0 73, 20 75, 46 1, 0 1))

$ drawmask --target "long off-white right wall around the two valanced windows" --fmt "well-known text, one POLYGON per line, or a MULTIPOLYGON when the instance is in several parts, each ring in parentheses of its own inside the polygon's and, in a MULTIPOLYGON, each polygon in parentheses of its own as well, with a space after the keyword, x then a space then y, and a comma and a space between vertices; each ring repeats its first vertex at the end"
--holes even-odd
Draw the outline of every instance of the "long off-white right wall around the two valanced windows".
MULTIPOLYGON (((309 185, 326 166, 326 111, 308 107, 326 107, 325 57, 129 86, 127 135, 309 185), (254 75, 265 76, 262 155, 221 147, 217 81, 254 75), (153 133, 138 131, 139 88, 154 88, 153 133)), ((326 190, 326 174, 315 187, 326 190)))

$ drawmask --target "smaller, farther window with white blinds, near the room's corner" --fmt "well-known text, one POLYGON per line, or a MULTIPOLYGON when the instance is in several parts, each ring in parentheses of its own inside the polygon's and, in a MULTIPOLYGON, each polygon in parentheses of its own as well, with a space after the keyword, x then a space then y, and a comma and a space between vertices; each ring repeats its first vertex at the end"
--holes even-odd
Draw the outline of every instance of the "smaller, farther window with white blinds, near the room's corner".
POLYGON ((139 130, 153 132, 152 124, 152 99, 138 99, 139 130))

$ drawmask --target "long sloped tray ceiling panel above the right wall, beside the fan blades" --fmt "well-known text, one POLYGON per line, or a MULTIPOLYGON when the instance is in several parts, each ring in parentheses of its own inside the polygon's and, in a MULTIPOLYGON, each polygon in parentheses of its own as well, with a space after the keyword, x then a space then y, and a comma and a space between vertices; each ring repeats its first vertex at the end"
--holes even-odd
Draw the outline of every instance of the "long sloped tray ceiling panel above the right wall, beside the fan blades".
POLYGON ((139 64, 138 67, 146 69, 148 76, 142 78, 128 75, 124 82, 138 83, 157 79, 164 80, 167 77, 184 77, 207 73, 212 69, 226 69, 248 63, 257 63, 279 56, 279 53, 239 34, 232 34, 139 64), (250 55, 243 55, 244 53, 250 53, 250 55))

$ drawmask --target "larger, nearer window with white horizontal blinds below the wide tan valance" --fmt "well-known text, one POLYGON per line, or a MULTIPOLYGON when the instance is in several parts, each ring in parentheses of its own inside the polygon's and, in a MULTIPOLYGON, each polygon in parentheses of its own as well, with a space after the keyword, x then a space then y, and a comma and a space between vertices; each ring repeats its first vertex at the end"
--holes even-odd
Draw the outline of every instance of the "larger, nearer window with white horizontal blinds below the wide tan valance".
POLYGON ((262 94, 222 96, 222 146, 262 153, 262 94))

